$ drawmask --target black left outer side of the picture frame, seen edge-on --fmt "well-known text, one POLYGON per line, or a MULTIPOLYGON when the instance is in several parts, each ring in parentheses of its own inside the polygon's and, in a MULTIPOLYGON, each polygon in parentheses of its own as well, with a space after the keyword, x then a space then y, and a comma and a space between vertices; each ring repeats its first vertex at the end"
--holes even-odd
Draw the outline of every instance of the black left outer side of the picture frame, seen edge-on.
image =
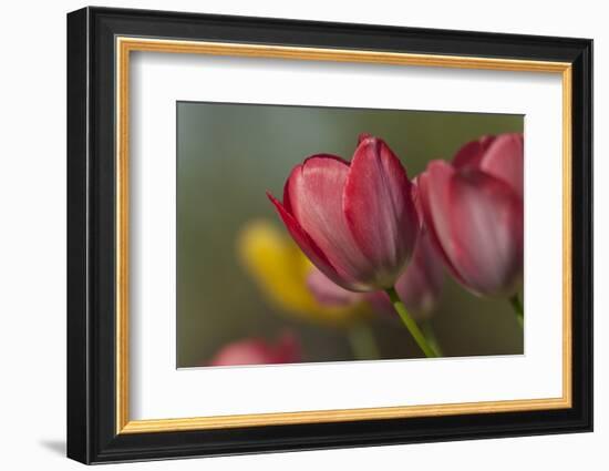
POLYGON ((91 463, 89 252, 89 17, 68 14, 68 420, 66 455, 91 463))

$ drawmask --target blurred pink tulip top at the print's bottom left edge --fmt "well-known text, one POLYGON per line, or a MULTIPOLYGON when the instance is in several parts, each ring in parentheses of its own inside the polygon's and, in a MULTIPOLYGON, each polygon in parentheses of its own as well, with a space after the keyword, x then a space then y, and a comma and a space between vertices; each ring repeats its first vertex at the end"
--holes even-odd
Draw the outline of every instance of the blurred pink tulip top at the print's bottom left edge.
POLYGON ((291 334, 275 344, 264 339, 237 340, 220 348, 207 366, 293 364, 301 360, 300 346, 291 334))

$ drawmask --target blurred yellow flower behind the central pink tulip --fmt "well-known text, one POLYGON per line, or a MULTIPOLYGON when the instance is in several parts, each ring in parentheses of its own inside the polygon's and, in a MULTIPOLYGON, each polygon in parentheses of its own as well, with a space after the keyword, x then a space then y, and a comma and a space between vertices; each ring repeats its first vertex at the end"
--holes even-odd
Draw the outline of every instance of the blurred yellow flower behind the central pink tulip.
POLYGON ((322 306, 307 288, 313 266, 291 237, 266 221, 251 221, 237 239, 238 256, 268 300, 302 319, 345 325, 370 314, 365 303, 322 306))

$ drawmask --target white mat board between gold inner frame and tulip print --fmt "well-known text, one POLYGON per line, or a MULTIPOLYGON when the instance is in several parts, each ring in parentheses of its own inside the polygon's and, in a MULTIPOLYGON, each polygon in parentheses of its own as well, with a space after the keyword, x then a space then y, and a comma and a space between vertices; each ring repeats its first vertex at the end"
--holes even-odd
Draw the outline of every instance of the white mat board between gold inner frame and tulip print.
POLYGON ((548 207, 548 201, 561 201, 562 190, 560 74, 134 55, 132 419, 561 397, 562 306, 556 293, 562 288, 562 240, 548 239, 562 233, 561 205, 548 207), (525 320, 526 355, 176 370, 175 113, 179 100, 525 115, 524 290, 535 294, 525 298, 525 310, 534 313, 525 320), (535 191, 538 182, 544 182, 544 192, 535 191), (240 395, 244 385, 245 396, 240 395))

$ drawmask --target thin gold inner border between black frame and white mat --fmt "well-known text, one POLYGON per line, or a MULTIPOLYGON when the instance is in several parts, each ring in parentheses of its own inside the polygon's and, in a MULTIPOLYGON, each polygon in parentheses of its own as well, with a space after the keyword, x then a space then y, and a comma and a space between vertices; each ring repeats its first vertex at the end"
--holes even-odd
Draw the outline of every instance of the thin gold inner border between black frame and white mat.
POLYGON ((296 48, 116 38, 116 433, 293 423, 340 422, 371 419, 454 416, 564 409, 571 407, 571 64, 512 59, 410 54, 362 50, 296 48), (360 62, 394 65, 441 66, 519 72, 557 73, 562 79, 562 396, 426 406, 273 412, 238 416, 131 420, 128 413, 128 136, 130 53, 132 51, 276 58, 291 60, 360 62))

